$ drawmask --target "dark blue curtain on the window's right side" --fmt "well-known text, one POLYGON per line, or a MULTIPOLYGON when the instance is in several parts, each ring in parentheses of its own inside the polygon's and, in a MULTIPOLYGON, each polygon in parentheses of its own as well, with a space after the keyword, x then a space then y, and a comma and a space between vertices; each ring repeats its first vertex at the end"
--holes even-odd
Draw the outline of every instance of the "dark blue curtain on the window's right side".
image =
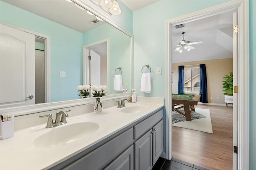
POLYGON ((205 64, 200 64, 200 102, 208 103, 207 100, 207 77, 205 64))

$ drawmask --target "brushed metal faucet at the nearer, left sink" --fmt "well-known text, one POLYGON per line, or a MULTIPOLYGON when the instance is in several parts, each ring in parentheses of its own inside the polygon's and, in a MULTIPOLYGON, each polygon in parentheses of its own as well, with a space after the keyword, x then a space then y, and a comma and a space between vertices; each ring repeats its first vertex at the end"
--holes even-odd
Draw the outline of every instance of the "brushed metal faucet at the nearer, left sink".
POLYGON ((56 113, 56 119, 55 119, 54 123, 52 121, 52 114, 40 115, 39 117, 48 117, 46 128, 51 128, 51 127, 55 127, 55 126, 59 126, 59 125, 67 123, 66 117, 68 117, 68 113, 66 113, 66 112, 68 112, 68 111, 71 111, 71 110, 59 111, 58 113, 56 113))

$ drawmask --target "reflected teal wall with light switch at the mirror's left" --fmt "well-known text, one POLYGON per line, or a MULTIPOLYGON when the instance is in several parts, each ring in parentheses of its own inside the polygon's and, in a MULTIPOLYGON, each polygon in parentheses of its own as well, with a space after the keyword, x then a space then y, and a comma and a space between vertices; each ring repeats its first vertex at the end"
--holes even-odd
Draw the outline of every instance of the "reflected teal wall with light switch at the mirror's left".
POLYGON ((79 98, 82 33, 0 1, 0 21, 50 36, 50 101, 79 98), (60 77, 66 71, 66 77, 60 77))

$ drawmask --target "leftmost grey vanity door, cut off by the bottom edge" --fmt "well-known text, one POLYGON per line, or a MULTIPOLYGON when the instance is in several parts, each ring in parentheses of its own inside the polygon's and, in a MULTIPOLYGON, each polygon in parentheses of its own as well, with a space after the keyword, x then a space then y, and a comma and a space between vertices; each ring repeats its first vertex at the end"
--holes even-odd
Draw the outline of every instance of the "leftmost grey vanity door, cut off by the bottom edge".
POLYGON ((104 170, 133 170, 133 145, 128 148, 124 153, 118 156, 114 162, 108 165, 104 170))

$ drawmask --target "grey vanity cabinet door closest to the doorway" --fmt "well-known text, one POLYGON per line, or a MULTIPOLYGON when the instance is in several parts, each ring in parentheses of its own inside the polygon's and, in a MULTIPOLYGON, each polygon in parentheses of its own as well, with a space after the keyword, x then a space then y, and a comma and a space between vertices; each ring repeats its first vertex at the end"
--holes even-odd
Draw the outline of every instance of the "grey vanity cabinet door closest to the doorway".
POLYGON ((160 157, 164 148, 163 140, 164 121, 161 120, 153 127, 153 166, 160 157))

